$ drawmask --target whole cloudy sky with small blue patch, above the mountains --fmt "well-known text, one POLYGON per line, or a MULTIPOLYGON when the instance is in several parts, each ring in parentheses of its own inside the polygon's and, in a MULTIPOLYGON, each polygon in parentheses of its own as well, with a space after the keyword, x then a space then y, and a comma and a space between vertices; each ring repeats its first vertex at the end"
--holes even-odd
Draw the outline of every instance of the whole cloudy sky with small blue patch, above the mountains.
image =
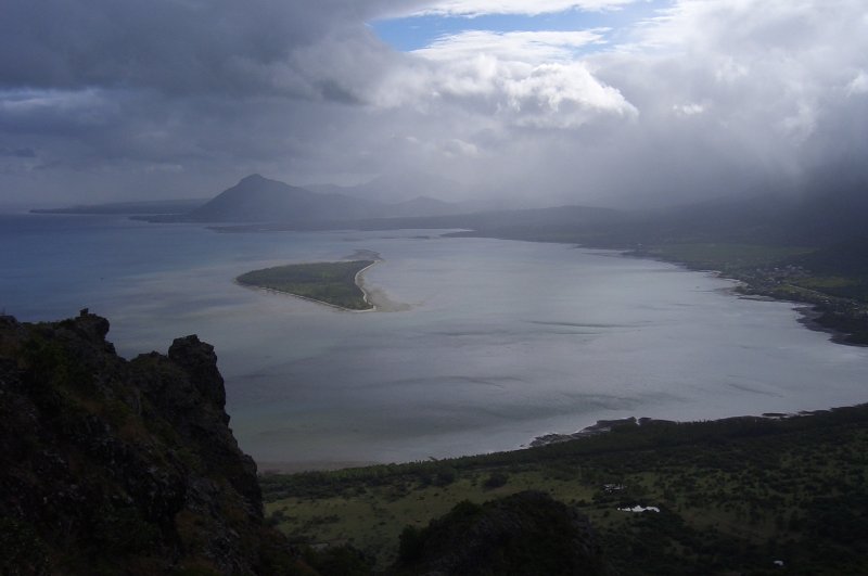
POLYGON ((0 202, 380 175, 660 205, 868 182, 865 0, 4 0, 0 202), (419 176, 423 178, 423 176, 419 176))

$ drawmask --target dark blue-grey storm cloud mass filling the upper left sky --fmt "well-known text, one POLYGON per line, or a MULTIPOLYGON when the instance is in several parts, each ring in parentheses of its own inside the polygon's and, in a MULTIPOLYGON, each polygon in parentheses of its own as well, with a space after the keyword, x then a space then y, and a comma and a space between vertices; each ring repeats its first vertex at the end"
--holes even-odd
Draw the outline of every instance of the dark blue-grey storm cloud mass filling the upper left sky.
POLYGON ((141 193, 155 175, 177 177, 164 195, 189 195, 247 171, 292 172, 324 152, 315 137, 346 123, 343 108, 362 104, 395 55, 363 24, 376 2, 9 0, 0 11, 0 149, 44 151, 4 163, 7 194, 63 197, 88 170, 94 196, 141 193))

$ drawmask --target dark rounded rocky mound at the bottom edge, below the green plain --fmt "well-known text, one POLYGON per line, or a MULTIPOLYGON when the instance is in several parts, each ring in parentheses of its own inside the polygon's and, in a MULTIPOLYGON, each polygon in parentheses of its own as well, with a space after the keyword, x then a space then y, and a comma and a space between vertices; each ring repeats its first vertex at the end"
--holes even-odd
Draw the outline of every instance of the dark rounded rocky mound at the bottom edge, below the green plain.
POLYGON ((610 575, 587 519, 547 494, 526 491, 482 505, 457 504, 401 534, 394 574, 610 575))

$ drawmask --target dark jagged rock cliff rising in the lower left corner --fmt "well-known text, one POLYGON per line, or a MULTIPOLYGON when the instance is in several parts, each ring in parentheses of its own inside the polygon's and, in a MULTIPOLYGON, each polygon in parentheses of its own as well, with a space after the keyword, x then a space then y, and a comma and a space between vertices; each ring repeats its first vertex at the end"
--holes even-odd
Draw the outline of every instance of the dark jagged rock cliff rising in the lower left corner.
POLYGON ((214 348, 119 358, 108 321, 0 317, 0 573, 269 574, 263 526, 214 348))

